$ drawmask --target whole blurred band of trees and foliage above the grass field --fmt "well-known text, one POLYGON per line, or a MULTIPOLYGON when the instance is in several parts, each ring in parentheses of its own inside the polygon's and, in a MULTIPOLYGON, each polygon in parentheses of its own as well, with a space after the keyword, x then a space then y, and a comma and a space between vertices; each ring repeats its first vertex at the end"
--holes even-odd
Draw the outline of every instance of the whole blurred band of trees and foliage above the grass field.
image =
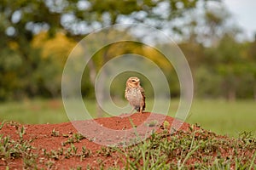
MULTIPOLYGON (((124 19, 160 29, 168 28, 182 37, 183 42, 179 46, 194 74, 198 97, 256 99, 256 42, 237 42, 234 35, 239 33, 239 28, 226 26, 230 14, 223 3, 218 2, 211 8, 208 2, 3 0, 0 7, 0 100, 60 97, 63 65, 75 42, 97 26, 122 23, 124 19), (204 3, 204 8, 199 8, 199 3, 204 3), (196 15, 198 9, 202 10, 200 16, 196 15), (163 10, 166 12, 161 13, 163 10), (188 23, 184 20, 185 26, 172 23, 184 18, 189 18, 188 23), (85 29, 78 29, 82 26, 85 29), (202 27, 207 29, 201 31, 202 27)), ((95 44, 94 48, 97 47, 97 39, 91 40, 91 43, 95 44)), ((116 43, 96 54, 91 66, 85 68, 82 94, 94 99, 95 84, 89 77, 95 77, 109 59, 127 53, 142 54, 160 65, 170 84, 172 96, 179 96, 179 82, 172 64, 168 65, 156 50, 138 43, 116 43)), ((123 91, 124 82, 124 78, 119 77, 113 83, 113 98, 123 98, 119 92, 123 91)), ((147 97, 154 97, 148 81, 143 82, 147 97)))

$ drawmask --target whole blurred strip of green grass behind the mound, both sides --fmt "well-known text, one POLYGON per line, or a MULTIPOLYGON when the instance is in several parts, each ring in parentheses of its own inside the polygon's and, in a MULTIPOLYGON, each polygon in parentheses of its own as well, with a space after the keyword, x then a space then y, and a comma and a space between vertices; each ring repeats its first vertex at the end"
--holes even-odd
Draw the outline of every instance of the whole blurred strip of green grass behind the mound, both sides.
MULTIPOLYGON (((93 113, 92 117, 96 117, 95 102, 85 101, 85 103, 90 107, 88 110, 93 113)), ((120 102, 120 105, 124 104, 126 102, 120 102)), ((152 105, 153 101, 147 102, 147 111, 150 111, 152 105)), ((172 99, 170 116, 175 115, 177 106, 178 100, 172 99)), ((61 99, 1 103, 0 122, 3 120, 29 124, 68 122, 61 99)), ((195 99, 186 122, 198 123, 207 130, 229 136, 237 137, 238 133, 244 131, 256 135, 256 102, 195 99)))

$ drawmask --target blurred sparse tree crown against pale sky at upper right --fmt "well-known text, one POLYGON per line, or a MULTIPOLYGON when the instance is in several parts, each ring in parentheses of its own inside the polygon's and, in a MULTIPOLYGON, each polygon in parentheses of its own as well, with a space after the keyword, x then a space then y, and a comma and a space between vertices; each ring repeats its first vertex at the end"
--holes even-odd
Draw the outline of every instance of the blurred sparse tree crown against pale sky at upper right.
POLYGON ((219 1, 205 3, 199 10, 190 12, 183 25, 180 29, 183 42, 200 43, 205 47, 218 45, 226 33, 234 37, 241 33, 228 8, 219 1))

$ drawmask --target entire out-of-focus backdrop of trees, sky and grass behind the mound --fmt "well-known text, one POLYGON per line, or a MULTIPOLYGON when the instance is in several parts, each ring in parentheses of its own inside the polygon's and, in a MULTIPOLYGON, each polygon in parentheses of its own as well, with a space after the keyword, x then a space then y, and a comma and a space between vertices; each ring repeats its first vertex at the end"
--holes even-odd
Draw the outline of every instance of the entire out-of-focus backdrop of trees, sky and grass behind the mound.
MULTIPOLYGON (((189 61, 195 99, 187 122, 232 136, 242 131, 255 134, 253 4, 253 0, 2 0, 0 122, 67 122, 61 74, 76 44, 104 26, 143 23, 172 37, 189 61)), ((166 42, 155 41, 156 46, 165 46, 166 42)), ((170 84, 170 116, 174 116, 180 94, 176 72, 159 51, 140 43, 115 43, 90 59, 81 82, 84 103, 95 117, 108 116, 96 109, 94 80, 109 59, 128 53, 147 56, 160 66, 170 84)), ((127 103, 125 81, 134 74, 124 72, 113 81, 111 94, 119 105, 127 103)), ((151 84, 143 75, 137 76, 142 77, 150 108, 151 84)))

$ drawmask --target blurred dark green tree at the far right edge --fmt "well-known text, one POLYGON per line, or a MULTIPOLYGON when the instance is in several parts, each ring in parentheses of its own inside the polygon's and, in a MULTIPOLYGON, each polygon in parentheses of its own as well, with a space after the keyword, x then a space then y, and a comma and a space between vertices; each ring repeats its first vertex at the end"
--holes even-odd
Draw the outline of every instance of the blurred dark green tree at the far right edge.
MULTIPOLYGON (((211 65, 213 80, 214 77, 220 78, 220 83, 216 86, 220 87, 218 96, 229 100, 246 96, 252 98, 255 95, 253 87, 256 82, 251 67, 256 65, 251 63, 252 59, 248 59, 248 48, 244 48, 242 43, 236 42, 234 37, 224 35, 218 46, 210 48, 210 50, 212 51, 210 56, 214 57, 211 65), (250 87, 247 82, 251 82, 250 87), (245 89, 250 92, 246 92, 245 89)), ((212 82, 212 79, 209 82, 212 82)))

